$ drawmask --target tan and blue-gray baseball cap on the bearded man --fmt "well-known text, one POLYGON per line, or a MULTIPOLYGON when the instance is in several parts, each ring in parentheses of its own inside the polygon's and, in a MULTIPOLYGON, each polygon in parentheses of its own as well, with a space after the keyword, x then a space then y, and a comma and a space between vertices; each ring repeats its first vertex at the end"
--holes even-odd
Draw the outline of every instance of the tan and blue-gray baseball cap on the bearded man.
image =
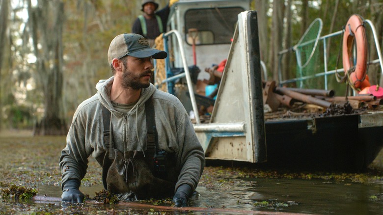
POLYGON ((152 57, 154 59, 167 57, 166 52, 150 48, 148 40, 135 33, 123 33, 114 37, 108 50, 109 65, 114 58, 121 59, 126 55, 138 58, 152 57))

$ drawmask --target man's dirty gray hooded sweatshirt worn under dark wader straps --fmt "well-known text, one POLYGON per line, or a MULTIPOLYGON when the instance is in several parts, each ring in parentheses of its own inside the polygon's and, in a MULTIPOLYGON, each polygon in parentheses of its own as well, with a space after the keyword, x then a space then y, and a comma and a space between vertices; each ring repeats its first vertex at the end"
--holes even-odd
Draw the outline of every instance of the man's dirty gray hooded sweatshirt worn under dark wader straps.
POLYGON ((120 152, 146 150, 145 101, 153 95, 159 146, 174 153, 177 160, 174 165, 179 177, 175 190, 182 184, 194 190, 205 165, 205 154, 181 102, 150 84, 142 89, 137 104, 127 114, 122 114, 110 103, 113 80, 114 77, 100 80, 96 85, 97 93, 83 101, 73 116, 67 145, 59 161, 61 187, 71 179, 81 181, 86 174, 88 157, 97 158, 107 150, 103 141, 102 106, 111 112, 114 147, 120 152))

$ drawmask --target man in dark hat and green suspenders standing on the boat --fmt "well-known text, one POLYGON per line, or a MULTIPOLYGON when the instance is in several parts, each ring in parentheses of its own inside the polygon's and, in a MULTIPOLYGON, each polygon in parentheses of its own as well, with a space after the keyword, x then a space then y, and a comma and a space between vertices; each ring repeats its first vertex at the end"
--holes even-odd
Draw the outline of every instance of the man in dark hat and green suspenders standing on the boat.
POLYGON ((153 47, 154 40, 165 31, 167 18, 169 16, 169 3, 159 11, 158 3, 154 0, 142 0, 143 15, 139 15, 133 23, 132 33, 143 35, 153 47))

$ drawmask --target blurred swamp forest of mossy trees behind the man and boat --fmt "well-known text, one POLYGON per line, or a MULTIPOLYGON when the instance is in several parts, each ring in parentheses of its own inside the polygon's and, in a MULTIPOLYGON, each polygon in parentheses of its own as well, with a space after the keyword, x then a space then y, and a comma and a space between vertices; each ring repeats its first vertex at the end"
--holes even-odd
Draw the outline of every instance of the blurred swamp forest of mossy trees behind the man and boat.
MULTIPOLYGON (((168 0, 157 2, 161 8, 168 0)), ((374 23, 382 47, 382 0, 252 0, 250 8, 258 12, 268 80, 277 80, 278 52, 297 44, 318 17, 323 35, 360 14, 374 23)), ((131 31, 140 9, 141 0, 0 0, 0 129, 66 134, 77 106, 96 92, 100 79, 112 75, 109 43, 131 31)), ((368 37, 373 46, 372 34, 368 37)), ((331 44, 337 52, 339 41, 331 44)), ((370 50, 376 59, 376 50, 370 50)), ((335 68, 336 57, 328 59, 329 67, 335 68)), ((295 74, 283 68, 283 76, 295 74)), ((383 84, 379 67, 368 72, 370 82, 383 84)))

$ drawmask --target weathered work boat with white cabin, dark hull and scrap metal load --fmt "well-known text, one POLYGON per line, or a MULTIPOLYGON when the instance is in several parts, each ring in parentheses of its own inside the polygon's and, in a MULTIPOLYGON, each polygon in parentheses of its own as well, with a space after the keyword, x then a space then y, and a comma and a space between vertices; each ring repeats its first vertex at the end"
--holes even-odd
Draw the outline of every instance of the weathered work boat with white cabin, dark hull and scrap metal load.
MULTIPOLYGON (((176 95, 191 118, 194 115, 194 130, 206 159, 279 168, 365 170, 383 148, 380 98, 369 94, 372 100, 364 101, 359 97, 356 98, 358 102, 352 102, 354 97, 360 96, 353 88, 348 92, 350 95, 343 94, 344 99, 338 101, 339 98, 328 90, 328 78, 339 76, 344 70, 329 70, 327 65, 323 72, 312 75, 297 72, 299 76, 288 80, 282 78, 279 70, 279 80, 265 80, 267 73, 260 59, 257 12, 250 10, 249 5, 250 0, 179 0, 171 7, 167 31, 161 38, 163 49, 171 57, 164 63, 156 61, 155 85, 176 95), (209 68, 222 59, 227 61, 217 95, 209 98, 198 91, 201 80, 206 79, 201 75, 205 72, 195 68, 209 68), (161 64, 164 64, 162 70, 159 69, 161 64), (161 71, 163 78, 159 78, 161 71), (301 83, 318 77, 325 84, 323 89, 314 91, 327 94, 302 93, 304 84, 301 83), (289 83, 297 87, 286 88, 289 83), (289 105, 283 103, 286 98, 288 104, 295 101, 295 104, 311 106, 317 111, 291 111, 286 108, 289 105), (278 111, 284 104, 285 108, 278 111), (206 106, 212 109, 208 117, 206 113, 201 114, 201 107, 206 106)), ((371 21, 364 23, 375 34, 371 21)), ((321 28, 320 19, 312 25, 321 28)), ((319 49, 318 43, 326 44, 328 38, 342 36, 343 32, 344 29, 325 36, 318 33, 281 51, 280 59, 291 52, 301 59, 300 48, 319 49)), ((378 63, 383 70, 379 43, 376 48, 379 59, 368 63, 378 63)), ((326 57, 326 46, 324 49, 326 57)), ((311 52, 305 55, 304 62, 298 60, 299 68, 313 59, 311 52)))

